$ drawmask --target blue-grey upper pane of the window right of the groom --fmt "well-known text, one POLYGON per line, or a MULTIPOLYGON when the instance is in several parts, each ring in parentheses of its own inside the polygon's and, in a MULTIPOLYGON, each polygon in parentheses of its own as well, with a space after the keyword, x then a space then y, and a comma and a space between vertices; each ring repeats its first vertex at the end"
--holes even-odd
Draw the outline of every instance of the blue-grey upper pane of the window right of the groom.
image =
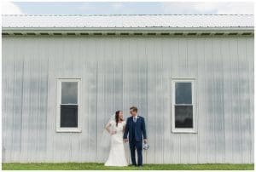
POLYGON ((175 83, 175 103, 192 104, 191 83, 175 83))

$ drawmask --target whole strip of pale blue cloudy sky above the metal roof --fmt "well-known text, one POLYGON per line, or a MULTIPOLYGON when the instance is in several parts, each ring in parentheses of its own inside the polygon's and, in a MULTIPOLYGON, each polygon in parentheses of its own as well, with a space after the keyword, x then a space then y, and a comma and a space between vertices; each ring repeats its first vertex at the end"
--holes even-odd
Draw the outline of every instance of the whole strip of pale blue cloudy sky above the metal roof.
POLYGON ((3 14, 253 14, 252 2, 11 2, 3 14))

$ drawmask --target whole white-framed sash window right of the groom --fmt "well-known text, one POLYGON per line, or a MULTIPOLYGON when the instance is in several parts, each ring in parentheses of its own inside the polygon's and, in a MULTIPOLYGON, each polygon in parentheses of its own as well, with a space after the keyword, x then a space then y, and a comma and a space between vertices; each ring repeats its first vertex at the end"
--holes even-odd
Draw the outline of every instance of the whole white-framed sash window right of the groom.
POLYGON ((172 80, 172 131, 195 132, 194 79, 172 80))

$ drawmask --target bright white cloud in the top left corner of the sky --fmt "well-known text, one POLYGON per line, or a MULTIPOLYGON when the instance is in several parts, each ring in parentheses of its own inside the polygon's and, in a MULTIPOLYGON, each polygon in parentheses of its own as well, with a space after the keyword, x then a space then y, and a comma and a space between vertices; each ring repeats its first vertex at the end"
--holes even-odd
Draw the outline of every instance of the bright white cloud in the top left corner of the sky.
POLYGON ((23 14, 23 13, 21 9, 14 2, 3 1, 2 14, 23 14))

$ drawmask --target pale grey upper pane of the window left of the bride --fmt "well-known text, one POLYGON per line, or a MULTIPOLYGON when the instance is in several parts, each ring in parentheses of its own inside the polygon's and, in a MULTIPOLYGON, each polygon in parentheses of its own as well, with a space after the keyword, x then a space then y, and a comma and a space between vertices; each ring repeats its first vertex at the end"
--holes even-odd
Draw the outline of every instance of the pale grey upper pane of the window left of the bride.
POLYGON ((61 82, 61 104, 78 103, 78 82, 61 82))

